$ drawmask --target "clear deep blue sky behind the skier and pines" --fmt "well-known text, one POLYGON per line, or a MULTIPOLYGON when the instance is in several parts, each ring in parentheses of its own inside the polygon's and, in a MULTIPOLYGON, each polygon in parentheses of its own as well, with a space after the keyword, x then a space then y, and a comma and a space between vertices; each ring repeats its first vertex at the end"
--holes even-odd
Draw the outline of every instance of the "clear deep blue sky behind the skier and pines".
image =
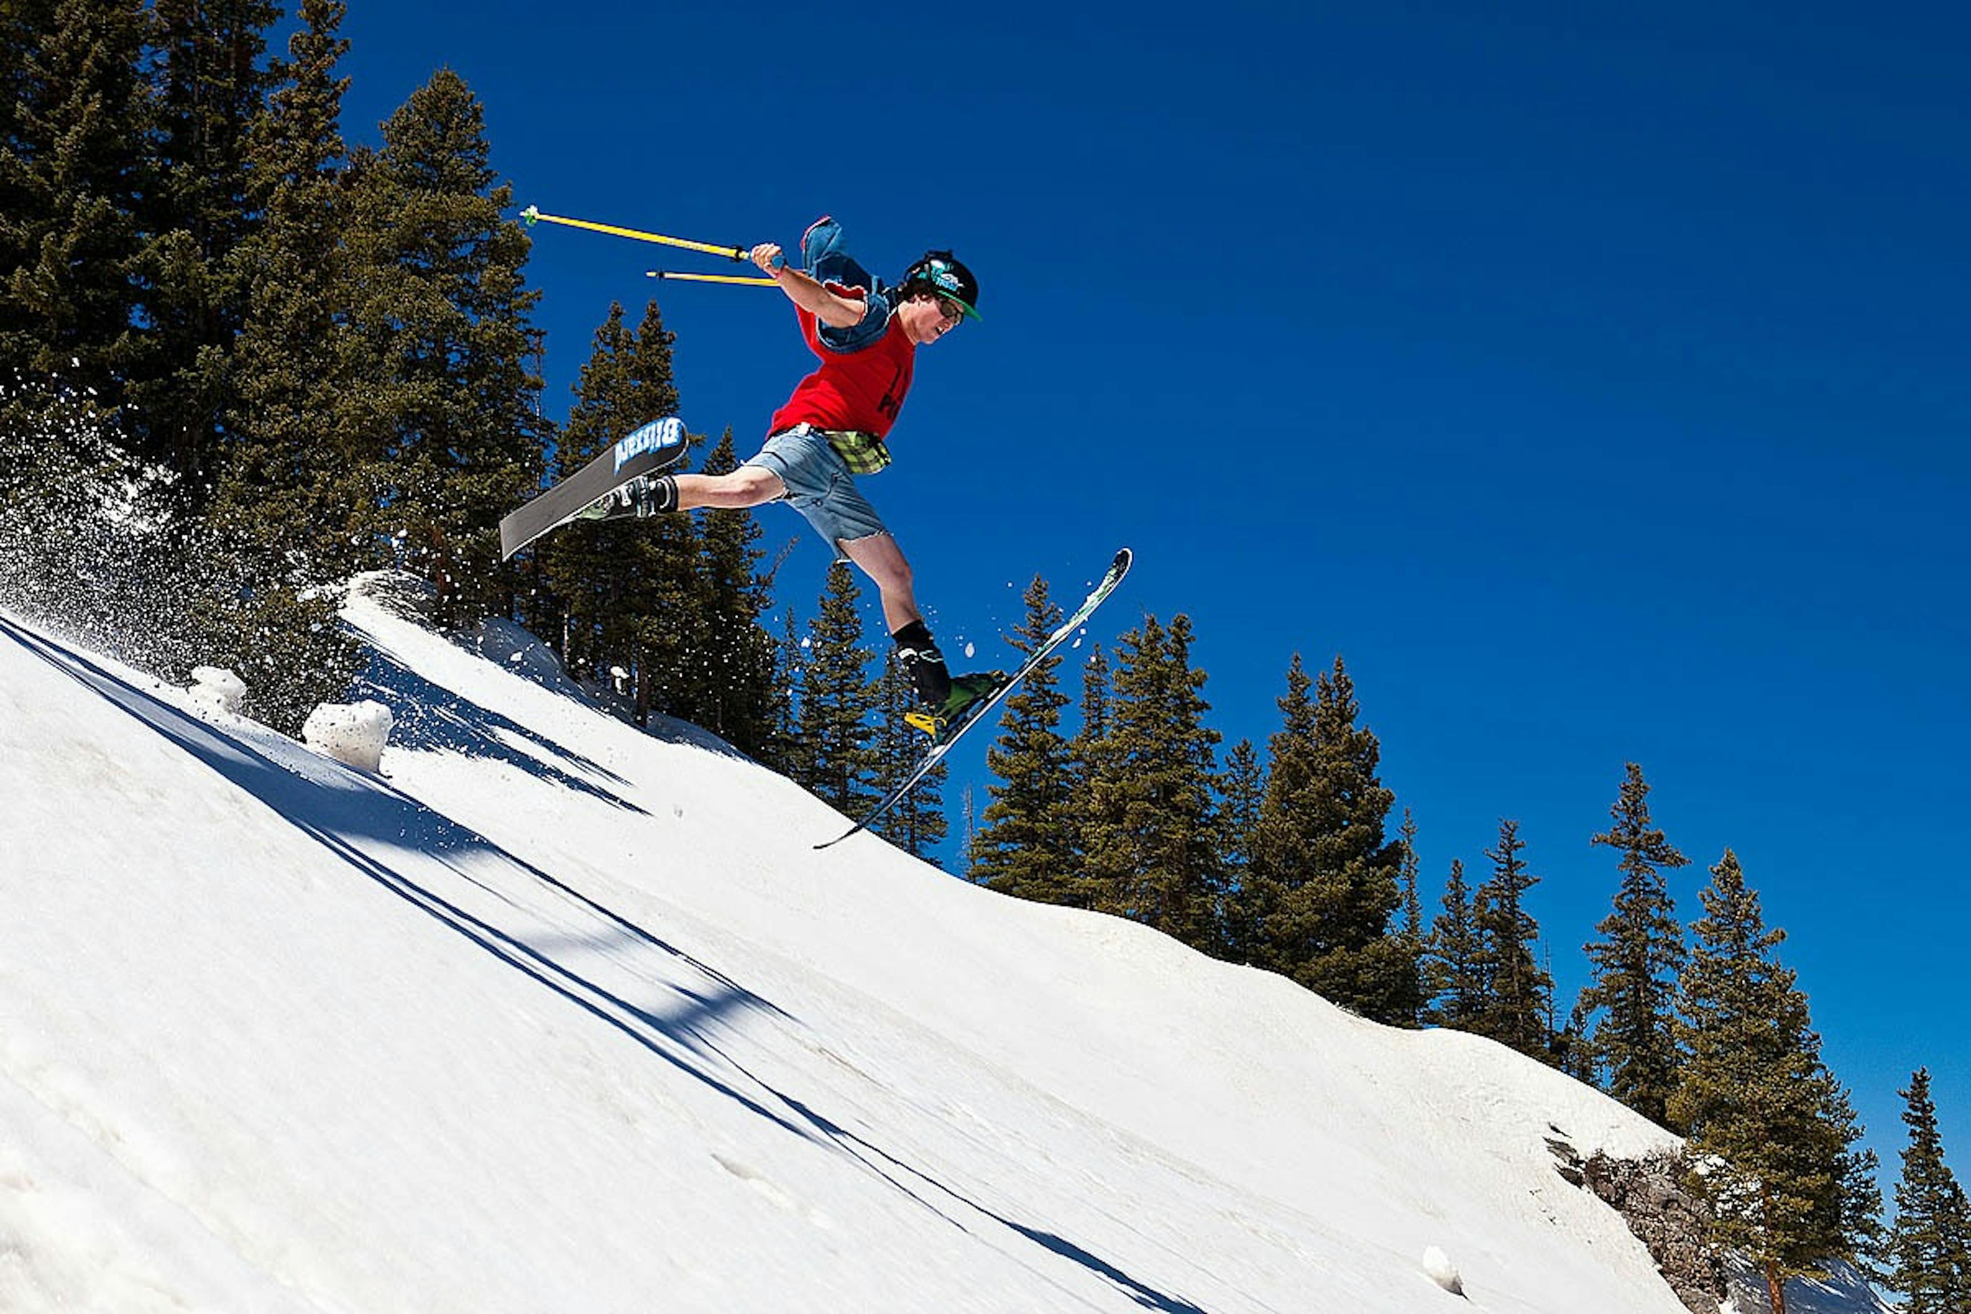
MULTIPOLYGON (((1640 762, 1683 918, 1731 845, 1790 932, 1884 1194, 1918 1066, 1971 1176, 1971 20, 1595 10, 355 4, 345 132, 445 65, 520 205, 954 248, 986 319, 867 481, 946 652, 1129 544, 1092 638, 1187 613, 1226 745, 1340 654, 1429 900, 1520 821, 1563 1009, 1640 762)), ((721 264, 536 230, 550 414, 648 268, 721 264)), ((686 420, 747 449, 786 305, 660 292, 686 420)), ((810 605, 826 552, 761 516, 810 605)))

